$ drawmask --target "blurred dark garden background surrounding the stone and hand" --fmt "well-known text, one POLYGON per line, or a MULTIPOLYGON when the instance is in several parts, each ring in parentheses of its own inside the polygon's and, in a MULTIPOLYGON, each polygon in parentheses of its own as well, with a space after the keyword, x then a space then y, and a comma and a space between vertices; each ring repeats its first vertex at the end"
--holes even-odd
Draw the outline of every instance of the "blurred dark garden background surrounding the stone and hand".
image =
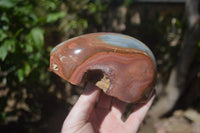
POLYGON ((157 116, 159 109, 154 109, 150 119, 157 119, 139 132, 168 130, 162 125, 175 114, 186 119, 185 133, 192 131, 200 119, 185 114, 189 109, 200 117, 200 2, 188 2, 0 0, 0 132, 60 132, 82 90, 50 72, 50 51, 64 40, 92 32, 133 36, 156 56, 156 103, 175 99, 157 116))

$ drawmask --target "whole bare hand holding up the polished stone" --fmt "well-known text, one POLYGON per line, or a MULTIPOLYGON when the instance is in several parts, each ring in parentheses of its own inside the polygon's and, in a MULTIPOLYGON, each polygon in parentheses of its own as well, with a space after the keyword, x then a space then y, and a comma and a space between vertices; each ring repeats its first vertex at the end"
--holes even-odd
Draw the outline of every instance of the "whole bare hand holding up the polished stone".
POLYGON ((121 117, 126 103, 87 84, 65 119, 62 133, 136 133, 154 98, 155 93, 123 121, 121 117))

